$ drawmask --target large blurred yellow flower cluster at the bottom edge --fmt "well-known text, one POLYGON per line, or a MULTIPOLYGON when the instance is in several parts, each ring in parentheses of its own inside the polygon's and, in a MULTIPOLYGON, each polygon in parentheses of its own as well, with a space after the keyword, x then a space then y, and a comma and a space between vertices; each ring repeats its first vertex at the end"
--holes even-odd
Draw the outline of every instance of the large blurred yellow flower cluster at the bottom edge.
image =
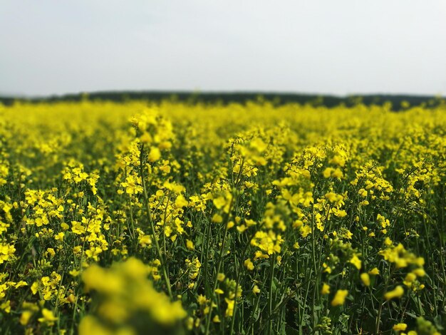
POLYGON ((150 267, 130 258, 110 269, 92 265, 83 272, 93 308, 79 326, 79 334, 178 334, 187 316, 180 301, 157 292, 147 279, 150 267))

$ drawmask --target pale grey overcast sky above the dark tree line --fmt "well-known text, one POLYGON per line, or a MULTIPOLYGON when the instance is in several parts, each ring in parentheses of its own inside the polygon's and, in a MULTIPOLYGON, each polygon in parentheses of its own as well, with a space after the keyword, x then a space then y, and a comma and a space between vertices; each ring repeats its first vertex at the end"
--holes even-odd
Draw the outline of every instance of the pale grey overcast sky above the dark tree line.
POLYGON ((446 95, 445 0, 0 0, 0 93, 446 95))

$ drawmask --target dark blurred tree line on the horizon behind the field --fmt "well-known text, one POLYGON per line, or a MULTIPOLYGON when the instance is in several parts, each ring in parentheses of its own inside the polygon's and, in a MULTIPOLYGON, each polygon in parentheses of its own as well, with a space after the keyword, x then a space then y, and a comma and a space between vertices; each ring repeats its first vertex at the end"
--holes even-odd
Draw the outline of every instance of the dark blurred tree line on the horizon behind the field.
POLYGON ((409 95, 358 95, 358 96, 321 96, 315 94, 301 93, 258 93, 258 92, 175 92, 175 91, 104 91, 93 93, 66 94, 63 96, 48 96, 43 98, 16 98, 1 97, 0 103, 11 105, 14 101, 26 101, 30 103, 58 102, 58 101, 81 101, 100 100, 125 102, 128 100, 147 100, 160 102, 162 100, 180 101, 183 103, 218 103, 227 105, 229 103, 247 103, 248 101, 269 101, 275 105, 286 103, 299 103, 301 105, 323 105, 335 107, 338 105, 352 106, 358 103, 365 105, 383 105, 391 103, 392 110, 404 110, 408 106, 422 105, 424 107, 435 107, 445 103, 445 98, 434 96, 409 96, 409 95))

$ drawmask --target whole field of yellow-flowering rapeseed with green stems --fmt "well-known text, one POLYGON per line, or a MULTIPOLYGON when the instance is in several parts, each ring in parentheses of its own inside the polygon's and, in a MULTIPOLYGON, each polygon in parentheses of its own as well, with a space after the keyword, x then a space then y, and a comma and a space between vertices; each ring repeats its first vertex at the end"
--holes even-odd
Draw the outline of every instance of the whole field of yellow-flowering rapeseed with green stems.
POLYGON ((1 334, 440 334, 446 105, 0 106, 1 334))

